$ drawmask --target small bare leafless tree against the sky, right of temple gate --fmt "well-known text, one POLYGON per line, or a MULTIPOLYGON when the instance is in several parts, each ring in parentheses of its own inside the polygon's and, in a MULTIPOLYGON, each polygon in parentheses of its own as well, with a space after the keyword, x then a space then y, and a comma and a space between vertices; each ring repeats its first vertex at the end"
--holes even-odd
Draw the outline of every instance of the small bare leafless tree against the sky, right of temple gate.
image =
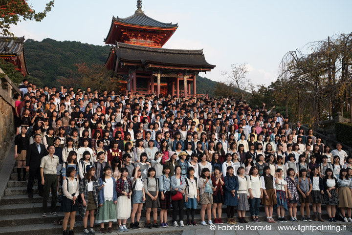
POLYGON ((243 97, 254 88, 251 80, 246 78, 248 69, 245 63, 240 65, 231 64, 231 69, 231 72, 222 71, 221 74, 232 80, 228 82, 228 85, 236 87, 243 99, 243 97))

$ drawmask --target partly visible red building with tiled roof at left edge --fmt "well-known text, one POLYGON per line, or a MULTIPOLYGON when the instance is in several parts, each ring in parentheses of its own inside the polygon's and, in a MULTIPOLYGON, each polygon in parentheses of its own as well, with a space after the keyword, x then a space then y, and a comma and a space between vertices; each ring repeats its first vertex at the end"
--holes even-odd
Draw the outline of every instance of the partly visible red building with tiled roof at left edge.
POLYGON ((11 58, 14 60, 15 57, 21 62, 18 70, 21 70, 24 76, 28 75, 29 72, 24 56, 24 36, 21 38, 0 37, 0 58, 11 58))

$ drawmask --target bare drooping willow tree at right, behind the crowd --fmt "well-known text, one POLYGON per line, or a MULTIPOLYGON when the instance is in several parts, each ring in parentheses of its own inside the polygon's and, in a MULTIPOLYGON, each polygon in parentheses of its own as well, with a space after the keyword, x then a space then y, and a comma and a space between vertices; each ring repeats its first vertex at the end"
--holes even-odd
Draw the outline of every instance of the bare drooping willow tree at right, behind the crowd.
POLYGON ((344 97, 351 97, 351 42, 352 34, 338 34, 283 57, 279 79, 283 90, 288 85, 293 88, 287 105, 294 109, 297 119, 312 123, 331 118, 344 104, 348 108, 344 97))

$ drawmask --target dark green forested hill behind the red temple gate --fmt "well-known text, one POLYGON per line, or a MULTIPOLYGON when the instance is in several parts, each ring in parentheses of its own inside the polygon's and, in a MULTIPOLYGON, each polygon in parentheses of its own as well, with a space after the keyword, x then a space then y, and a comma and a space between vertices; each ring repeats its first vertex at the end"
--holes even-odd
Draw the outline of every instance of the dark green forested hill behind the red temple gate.
MULTIPOLYGON (((63 77, 77 79, 77 67, 74 64, 104 64, 110 52, 110 45, 99 46, 88 43, 44 39, 38 42, 28 39, 24 43, 27 67, 32 77, 45 85, 60 85, 57 80, 63 77)), ((197 93, 208 92, 214 95, 217 82, 197 77, 197 93)), ((193 86, 192 86, 193 90, 193 86)))

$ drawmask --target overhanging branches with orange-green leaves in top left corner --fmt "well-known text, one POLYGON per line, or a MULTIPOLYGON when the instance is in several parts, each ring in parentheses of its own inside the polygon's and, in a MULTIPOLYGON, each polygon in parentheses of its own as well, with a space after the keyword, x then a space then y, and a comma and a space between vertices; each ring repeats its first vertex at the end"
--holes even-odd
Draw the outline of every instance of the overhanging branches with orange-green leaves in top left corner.
POLYGON ((42 21, 54 6, 54 0, 46 3, 44 11, 39 13, 28 6, 25 0, 1 0, 0 6, 0 33, 3 36, 13 37, 14 34, 10 31, 11 24, 17 25, 18 22, 21 22, 20 17, 23 21, 42 21))

